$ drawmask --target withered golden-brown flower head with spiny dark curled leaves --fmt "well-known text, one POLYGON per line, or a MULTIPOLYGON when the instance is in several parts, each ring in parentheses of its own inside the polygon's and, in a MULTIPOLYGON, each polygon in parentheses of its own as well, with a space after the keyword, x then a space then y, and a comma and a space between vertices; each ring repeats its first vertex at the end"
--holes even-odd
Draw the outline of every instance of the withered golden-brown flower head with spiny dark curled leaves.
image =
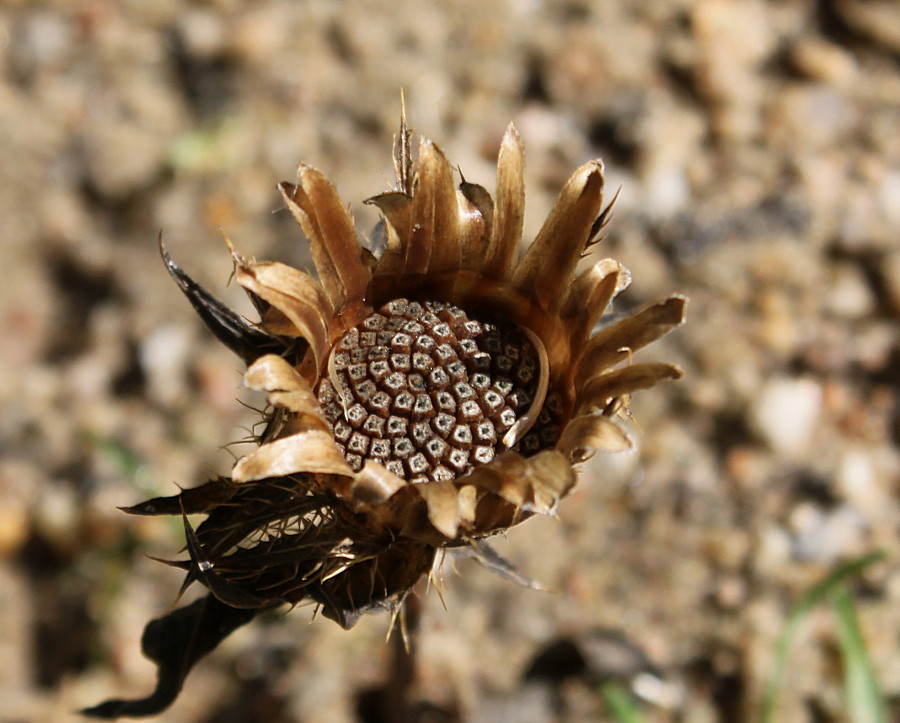
POLYGON ((235 253, 259 323, 216 301, 163 249, 269 408, 258 446, 230 478, 127 510, 207 515, 196 530, 185 517, 190 559, 171 564, 209 595, 147 626, 144 652, 159 665, 153 695, 86 713, 162 710, 196 660, 261 610, 309 600, 349 628, 364 612, 395 608, 444 548, 467 547, 512 574, 482 541, 552 514, 579 463, 630 447, 616 421, 627 395, 681 376, 633 363, 632 353, 682 322, 683 297, 595 331, 630 279, 610 259, 577 272, 609 216, 600 161, 572 175, 520 255, 516 130, 503 138, 495 198, 457 186, 429 140, 414 161, 410 137, 401 123, 396 187, 367 201, 383 215, 372 244, 380 252, 360 243, 315 168, 279 186, 318 279, 235 253))

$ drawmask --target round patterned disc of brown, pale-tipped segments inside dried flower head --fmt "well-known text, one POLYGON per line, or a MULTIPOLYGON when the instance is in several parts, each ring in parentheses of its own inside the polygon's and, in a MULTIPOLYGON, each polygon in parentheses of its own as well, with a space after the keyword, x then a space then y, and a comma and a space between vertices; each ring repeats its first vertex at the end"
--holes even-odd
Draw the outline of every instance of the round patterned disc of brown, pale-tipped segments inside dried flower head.
MULTIPOLYGON (((433 301, 388 302, 332 354, 316 395, 348 464, 358 471, 372 459, 410 482, 450 480, 490 462, 530 408, 540 373, 517 326, 433 301)), ((556 441, 554 406, 548 395, 523 453, 556 441)))

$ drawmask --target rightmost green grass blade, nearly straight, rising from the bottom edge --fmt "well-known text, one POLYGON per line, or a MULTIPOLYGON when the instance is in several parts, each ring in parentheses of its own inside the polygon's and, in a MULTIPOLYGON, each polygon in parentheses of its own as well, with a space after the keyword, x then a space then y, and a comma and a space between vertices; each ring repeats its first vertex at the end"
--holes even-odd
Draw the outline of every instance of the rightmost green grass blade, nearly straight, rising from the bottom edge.
POLYGON ((850 720, 852 723, 886 723, 884 698, 846 585, 832 594, 831 606, 837 618, 837 637, 844 663, 844 694, 850 720))

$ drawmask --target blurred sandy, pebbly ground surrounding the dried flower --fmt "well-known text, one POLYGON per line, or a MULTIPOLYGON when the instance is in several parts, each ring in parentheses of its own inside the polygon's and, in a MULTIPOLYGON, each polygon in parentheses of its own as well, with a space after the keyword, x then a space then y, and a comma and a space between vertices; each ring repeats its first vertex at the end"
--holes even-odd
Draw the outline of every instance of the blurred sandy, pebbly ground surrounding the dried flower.
MULTIPOLYGON (((255 419, 157 234, 251 315, 221 234, 307 265, 300 161, 366 234, 401 88, 489 189, 515 122, 528 239, 601 157, 616 310, 691 298, 639 357, 686 374, 634 398, 638 452, 497 542, 548 591, 444 565, 419 720, 758 720, 773 691, 769 720, 900 720, 898 66, 893 0, 0 2, 0 721, 149 692, 181 575, 147 555, 183 533, 116 507, 227 473, 255 419)), ((386 720, 388 617, 312 617, 233 635, 163 719, 386 720)))

